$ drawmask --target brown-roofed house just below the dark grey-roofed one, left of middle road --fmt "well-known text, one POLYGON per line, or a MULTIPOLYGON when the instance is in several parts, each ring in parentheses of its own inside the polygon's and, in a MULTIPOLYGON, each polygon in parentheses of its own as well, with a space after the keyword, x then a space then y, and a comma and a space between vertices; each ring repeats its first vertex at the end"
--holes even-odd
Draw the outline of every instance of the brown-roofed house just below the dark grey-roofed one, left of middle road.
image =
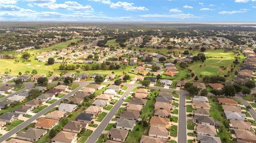
POLYGON ((88 126, 88 124, 86 124, 86 123, 80 123, 80 122, 70 121, 70 122, 68 122, 68 123, 63 127, 63 131, 79 133, 82 128, 85 128, 85 129, 86 129, 87 126, 88 126))

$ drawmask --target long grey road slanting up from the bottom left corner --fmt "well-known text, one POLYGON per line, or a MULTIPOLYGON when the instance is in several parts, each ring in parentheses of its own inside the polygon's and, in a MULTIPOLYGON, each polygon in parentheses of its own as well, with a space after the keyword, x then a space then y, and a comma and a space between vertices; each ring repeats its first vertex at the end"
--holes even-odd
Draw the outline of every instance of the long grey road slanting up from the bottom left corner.
POLYGON ((18 131, 20 131, 21 129, 27 127, 28 124, 30 124, 31 122, 35 121, 36 119, 38 119, 40 116, 42 116, 43 114, 45 114, 46 112, 50 111, 53 107, 57 106, 58 104, 60 104, 60 102, 64 99, 67 99, 69 96, 75 94, 78 90, 80 90, 81 88, 83 88, 84 86, 88 85, 90 82, 78 82, 80 84, 79 87, 77 87, 76 89, 74 89, 73 91, 69 92, 68 94, 66 94, 65 96, 63 96, 62 98, 60 98, 59 100, 57 100, 56 102, 54 102, 53 104, 47 106, 46 108, 44 108, 42 111, 38 112, 36 115, 30 117, 27 121, 21 123, 20 125, 18 125, 16 128, 14 128, 13 130, 5 133, 2 137, 0 137, 0 142, 5 141, 6 139, 10 138, 13 134, 17 133, 18 131))

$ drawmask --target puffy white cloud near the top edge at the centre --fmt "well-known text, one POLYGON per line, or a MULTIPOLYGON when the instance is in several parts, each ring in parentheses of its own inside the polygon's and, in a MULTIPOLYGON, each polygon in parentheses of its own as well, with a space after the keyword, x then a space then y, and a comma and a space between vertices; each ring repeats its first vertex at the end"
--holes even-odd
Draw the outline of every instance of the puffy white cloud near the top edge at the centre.
POLYGON ((127 2, 117 2, 112 3, 110 8, 112 9, 124 9, 126 11, 147 11, 148 9, 144 6, 133 6, 134 3, 127 3, 127 2))

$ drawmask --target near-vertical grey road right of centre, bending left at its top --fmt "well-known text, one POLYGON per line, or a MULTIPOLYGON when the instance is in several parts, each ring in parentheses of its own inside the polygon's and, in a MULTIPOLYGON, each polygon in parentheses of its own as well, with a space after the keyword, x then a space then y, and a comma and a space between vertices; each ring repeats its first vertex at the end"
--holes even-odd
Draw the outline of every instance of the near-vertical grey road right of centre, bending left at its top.
POLYGON ((162 87, 149 87, 151 89, 160 89, 161 91, 176 91, 180 95, 179 99, 179 121, 178 121, 178 142, 187 142, 187 116, 186 116, 186 95, 188 92, 185 90, 175 90, 175 89, 164 89, 162 87))

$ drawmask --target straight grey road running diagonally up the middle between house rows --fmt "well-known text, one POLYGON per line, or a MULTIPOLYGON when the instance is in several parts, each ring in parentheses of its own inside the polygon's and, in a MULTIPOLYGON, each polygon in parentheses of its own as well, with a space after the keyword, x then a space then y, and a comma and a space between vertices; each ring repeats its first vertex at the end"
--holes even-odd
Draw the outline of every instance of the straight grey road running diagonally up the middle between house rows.
POLYGON ((103 121, 99 124, 98 128, 92 133, 92 135, 87 139, 86 143, 96 142, 100 136, 100 134, 105 130, 110 120, 113 118, 119 107, 123 104, 123 98, 128 96, 131 90, 138 85, 129 85, 123 96, 118 100, 118 102, 114 105, 114 107, 109 111, 107 116, 103 119, 103 121))

